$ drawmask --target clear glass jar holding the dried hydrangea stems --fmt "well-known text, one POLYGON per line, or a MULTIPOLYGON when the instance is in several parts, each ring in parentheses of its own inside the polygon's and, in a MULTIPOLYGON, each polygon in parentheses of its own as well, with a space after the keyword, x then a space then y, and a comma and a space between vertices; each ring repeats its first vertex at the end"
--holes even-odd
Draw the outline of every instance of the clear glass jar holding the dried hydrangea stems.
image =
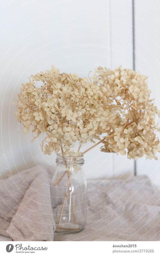
POLYGON ((57 155, 51 190, 56 232, 80 232, 86 226, 86 178, 83 156, 57 155))

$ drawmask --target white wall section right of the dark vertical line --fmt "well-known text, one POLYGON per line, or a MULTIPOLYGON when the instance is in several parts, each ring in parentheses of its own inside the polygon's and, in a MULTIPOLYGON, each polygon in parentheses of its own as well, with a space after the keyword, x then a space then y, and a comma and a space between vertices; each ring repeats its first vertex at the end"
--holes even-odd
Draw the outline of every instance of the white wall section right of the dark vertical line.
MULTIPOLYGON (((135 0, 135 47, 136 70, 149 76, 151 95, 160 109, 160 1, 135 0)), ((160 185, 160 153, 158 158, 158 161, 139 159, 137 172, 145 173, 160 185)))

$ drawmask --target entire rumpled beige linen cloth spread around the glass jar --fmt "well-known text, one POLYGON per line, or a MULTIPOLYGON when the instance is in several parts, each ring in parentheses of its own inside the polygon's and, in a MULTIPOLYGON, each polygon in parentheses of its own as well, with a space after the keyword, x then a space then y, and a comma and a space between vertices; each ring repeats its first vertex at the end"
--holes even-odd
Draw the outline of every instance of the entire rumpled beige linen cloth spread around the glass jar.
POLYGON ((88 182, 87 224, 54 233, 49 168, 0 180, 0 234, 14 241, 160 241, 160 191, 147 176, 88 182), (53 239, 54 234, 54 239, 53 239))

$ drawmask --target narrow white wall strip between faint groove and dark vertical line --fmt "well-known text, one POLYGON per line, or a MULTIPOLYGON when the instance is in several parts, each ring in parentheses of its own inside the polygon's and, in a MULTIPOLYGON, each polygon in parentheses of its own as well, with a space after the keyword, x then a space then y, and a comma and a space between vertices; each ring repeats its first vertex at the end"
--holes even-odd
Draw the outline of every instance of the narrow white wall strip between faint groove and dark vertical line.
MULTIPOLYGON (((132 52, 132 1, 110 1, 110 37, 112 68, 122 65, 122 68, 133 68, 132 52)), ((134 161, 127 156, 113 154, 115 175, 132 175, 134 161)))

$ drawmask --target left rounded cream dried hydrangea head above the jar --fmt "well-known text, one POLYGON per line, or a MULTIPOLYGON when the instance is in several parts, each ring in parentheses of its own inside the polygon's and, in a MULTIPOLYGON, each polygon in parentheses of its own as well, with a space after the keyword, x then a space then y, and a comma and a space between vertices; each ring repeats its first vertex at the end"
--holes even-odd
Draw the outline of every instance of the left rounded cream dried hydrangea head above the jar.
POLYGON ((25 133, 32 127, 33 140, 45 133, 41 144, 44 154, 57 153, 62 147, 65 155, 74 142, 86 143, 95 134, 100 124, 100 94, 99 86, 86 77, 60 74, 52 66, 22 84, 17 118, 25 133))

